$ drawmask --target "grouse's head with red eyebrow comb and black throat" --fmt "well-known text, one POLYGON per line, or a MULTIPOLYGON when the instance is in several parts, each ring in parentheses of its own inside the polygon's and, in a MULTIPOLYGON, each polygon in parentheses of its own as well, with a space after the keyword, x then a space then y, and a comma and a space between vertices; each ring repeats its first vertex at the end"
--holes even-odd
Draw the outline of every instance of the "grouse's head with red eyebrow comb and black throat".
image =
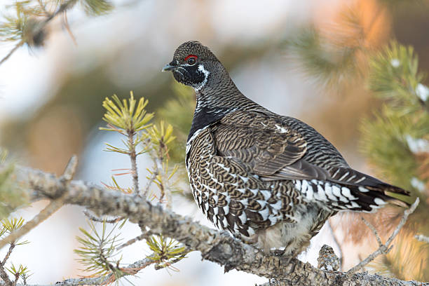
POLYGON ((200 90, 210 78, 222 73, 224 67, 209 48, 198 41, 187 41, 176 49, 163 71, 172 71, 176 81, 200 90))

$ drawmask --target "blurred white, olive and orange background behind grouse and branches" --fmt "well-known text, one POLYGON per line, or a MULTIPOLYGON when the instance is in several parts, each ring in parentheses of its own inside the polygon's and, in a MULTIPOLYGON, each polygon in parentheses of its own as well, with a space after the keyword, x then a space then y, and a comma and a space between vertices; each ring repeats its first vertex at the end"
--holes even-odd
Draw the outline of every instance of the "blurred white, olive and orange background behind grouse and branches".
MULTIPOLYGON (((16 13, 14 3, 0 0, 4 15, 16 13)), ((224 63, 247 97, 312 125, 353 168, 414 191, 419 186, 417 195, 427 198, 427 177, 413 177, 417 181, 411 184, 409 179, 405 182, 379 168, 365 143, 372 137, 362 138, 368 134, 362 125, 375 122, 374 114, 383 105, 367 88, 369 57, 396 39, 414 47, 419 70, 429 70, 429 1, 115 0, 111 4, 113 9, 102 13, 86 13, 88 7, 76 4, 67 10, 68 25, 62 15, 54 18, 43 34, 29 34, 31 41, 26 40, 0 65, 0 146, 20 165, 61 175, 70 156, 77 154, 75 179, 95 184, 109 182, 112 170, 130 168, 127 156, 103 151, 104 142, 121 144, 121 137, 99 130, 105 125, 104 97, 126 98, 130 90, 135 97, 149 100, 147 110, 155 112, 157 120, 165 118, 175 127, 177 149, 182 150, 193 110, 175 109, 174 102, 178 93, 193 91, 177 87, 171 74, 161 74, 161 68, 170 62, 179 44, 198 40, 224 63)), ((55 11, 55 7, 47 9, 55 11)), ((0 22, 7 21, 5 16, 2 19, 0 22)), ((8 55, 18 41, 2 41, 0 57, 8 55)), ((421 84, 428 82, 422 79, 421 84)), ((194 100, 193 95, 190 98, 194 100)), ((425 164, 427 152, 421 152, 425 164)), ((183 165, 182 158, 175 156, 183 165)), ((150 164, 150 158, 139 156, 141 185, 150 164)), ((117 179, 123 186, 131 184, 130 176, 117 179)), ((46 202, 36 203, 16 215, 30 219, 44 205, 46 202)), ((172 208, 210 226, 186 196, 175 196, 172 208)), ((387 209, 367 217, 389 231, 401 212, 387 209)), ((367 257, 377 245, 359 217, 336 215, 331 220, 333 231, 325 226, 300 259, 317 266, 318 250, 324 243, 332 245, 339 256, 341 245, 343 270, 367 257)), ((394 250, 400 261, 415 267, 396 267, 392 263, 395 257, 386 256, 366 270, 402 279, 429 279, 424 274, 429 273, 427 247, 416 244, 410 234, 411 229, 429 233, 423 213, 419 217, 422 220, 410 224, 402 244, 394 250)), ((74 237, 79 227, 85 225, 81 208, 63 207, 25 236, 31 243, 18 247, 12 261, 25 263, 32 271, 30 283, 48 284, 83 275, 72 250, 78 246, 74 237)), ((128 240, 139 234, 139 228, 127 224, 122 233, 128 240)), ((0 257, 5 251, 0 251, 0 257)), ((145 243, 136 243, 123 251, 123 262, 131 263, 148 253, 145 243)), ((188 256, 175 264, 177 272, 149 267, 130 280, 135 285, 266 282, 238 271, 224 274, 217 264, 201 261, 199 253, 188 256)))

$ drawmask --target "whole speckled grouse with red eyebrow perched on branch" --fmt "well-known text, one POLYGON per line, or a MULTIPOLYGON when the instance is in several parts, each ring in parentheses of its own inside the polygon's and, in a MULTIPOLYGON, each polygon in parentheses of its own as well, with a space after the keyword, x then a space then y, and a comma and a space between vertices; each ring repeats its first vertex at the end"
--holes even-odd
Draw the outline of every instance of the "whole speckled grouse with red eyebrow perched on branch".
POLYGON ((350 168, 310 125, 245 97, 202 43, 182 43, 162 71, 196 91, 185 165, 193 198, 218 229, 296 257, 337 212, 409 205, 408 191, 350 168))

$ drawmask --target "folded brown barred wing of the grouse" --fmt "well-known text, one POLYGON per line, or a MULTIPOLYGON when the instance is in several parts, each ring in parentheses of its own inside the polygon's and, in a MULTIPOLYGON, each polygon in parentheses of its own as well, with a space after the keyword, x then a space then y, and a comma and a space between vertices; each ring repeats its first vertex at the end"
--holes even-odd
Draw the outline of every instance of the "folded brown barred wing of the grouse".
POLYGON ((212 127, 220 156, 231 157, 263 179, 327 179, 327 171, 303 159, 304 137, 280 118, 235 111, 212 127))

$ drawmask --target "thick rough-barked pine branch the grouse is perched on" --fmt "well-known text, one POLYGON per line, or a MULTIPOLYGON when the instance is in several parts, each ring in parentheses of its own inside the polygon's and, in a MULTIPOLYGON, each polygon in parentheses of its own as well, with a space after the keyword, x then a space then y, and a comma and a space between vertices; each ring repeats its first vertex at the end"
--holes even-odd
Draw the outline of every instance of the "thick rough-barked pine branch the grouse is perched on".
MULTIPOLYGON (((0 165, 1 168, 6 166, 0 165)), ((294 285, 297 282, 302 285, 339 285, 337 281, 349 285, 370 285, 374 281, 383 285, 429 285, 367 273, 347 276, 341 272, 321 271, 297 259, 264 254, 226 232, 209 229, 160 205, 152 205, 139 196, 125 195, 81 181, 71 181, 64 188, 64 184, 54 175, 30 168, 17 167, 15 176, 20 184, 26 186, 34 200, 62 196, 64 203, 87 207, 98 216, 128 217, 132 223, 143 224, 153 233, 163 233, 163 236, 183 243, 189 250, 201 252, 203 259, 224 266, 225 271, 236 269, 266 278, 276 277, 281 280, 282 284, 279 285, 294 285)))

